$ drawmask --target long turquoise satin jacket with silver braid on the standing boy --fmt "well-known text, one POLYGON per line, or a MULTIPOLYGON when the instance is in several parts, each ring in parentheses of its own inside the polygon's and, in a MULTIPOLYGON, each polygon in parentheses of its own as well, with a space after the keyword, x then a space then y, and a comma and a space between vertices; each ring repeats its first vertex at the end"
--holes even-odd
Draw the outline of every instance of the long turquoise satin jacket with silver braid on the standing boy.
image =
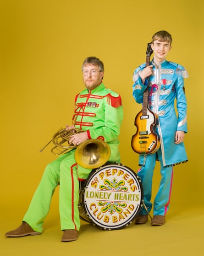
MULTIPOLYGON (((181 65, 166 60, 157 66, 153 59, 150 65, 153 65, 154 74, 149 76, 148 104, 159 119, 156 132, 160 137, 163 165, 171 166, 186 162, 187 154, 183 142, 174 142, 176 131, 187 133, 187 101, 184 88, 184 78, 188 77, 187 71, 181 65)), ((133 74, 132 94, 137 103, 143 103, 143 92, 148 85, 147 79, 143 84, 140 77, 145 66, 146 64, 142 64, 133 74)), ((143 157, 140 155, 140 163, 143 163, 143 157)))

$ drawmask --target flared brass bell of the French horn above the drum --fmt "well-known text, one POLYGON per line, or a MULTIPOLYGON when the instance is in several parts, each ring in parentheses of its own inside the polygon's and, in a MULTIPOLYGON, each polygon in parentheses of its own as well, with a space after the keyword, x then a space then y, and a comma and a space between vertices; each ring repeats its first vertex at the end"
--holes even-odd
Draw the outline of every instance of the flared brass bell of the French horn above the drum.
POLYGON ((105 164, 110 157, 110 146, 103 140, 86 140, 77 146, 76 162, 87 169, 98 168, 105 164))

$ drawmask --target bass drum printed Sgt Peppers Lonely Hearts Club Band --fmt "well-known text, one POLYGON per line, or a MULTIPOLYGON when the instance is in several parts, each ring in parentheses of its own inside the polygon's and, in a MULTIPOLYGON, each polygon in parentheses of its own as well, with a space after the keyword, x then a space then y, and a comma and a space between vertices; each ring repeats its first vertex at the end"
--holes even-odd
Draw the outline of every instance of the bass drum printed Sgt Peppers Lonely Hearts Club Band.
POLYGON ((143 188, 135 172, 121 163, 106 163, 81 182, 79 215, 105 230, 127 227, 143 205, 143 188))

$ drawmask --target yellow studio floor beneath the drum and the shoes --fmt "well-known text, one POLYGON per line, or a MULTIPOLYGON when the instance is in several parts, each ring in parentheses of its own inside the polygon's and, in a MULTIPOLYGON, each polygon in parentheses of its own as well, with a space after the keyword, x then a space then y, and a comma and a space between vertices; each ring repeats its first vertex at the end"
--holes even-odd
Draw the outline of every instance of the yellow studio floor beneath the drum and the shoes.
POLYGON ((164 226, 145 225, 104 231, 82 221, 77 241, 62 243, 59 216, 50 212, 44 233, 23 238, 6 238, 4 233, 16 228, 22 211, 1 212, 0 255, 81 255, 81 256, 177 256, 204 255, 204 208, 169 210, 164 226))

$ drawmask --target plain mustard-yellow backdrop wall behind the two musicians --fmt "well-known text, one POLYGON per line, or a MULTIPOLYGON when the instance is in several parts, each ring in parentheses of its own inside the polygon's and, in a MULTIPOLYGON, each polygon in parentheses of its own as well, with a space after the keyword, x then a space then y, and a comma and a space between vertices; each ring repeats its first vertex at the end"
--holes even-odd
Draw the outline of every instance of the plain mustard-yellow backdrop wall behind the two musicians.
MULTIPOLYGON (((130 142, 141 106, 132 98, 132 74, 145 62, 151 36, 163 29, 173 37, 168 60, 189 73, 189 161, 175 167, 170 211, 204 205, 202 5, 199 0, 1 0, 1 215, 10 209, 19 217, 25 213, 46 163, 55 158, 50 147, 43 153, 39 149, 57 129, 71 124, 88 56, 104 62, 105 86, 121 94, 121 162, 137 171, 138 155, 130 142)), ((158 164, 153 193, 159 180, 158 164)))

